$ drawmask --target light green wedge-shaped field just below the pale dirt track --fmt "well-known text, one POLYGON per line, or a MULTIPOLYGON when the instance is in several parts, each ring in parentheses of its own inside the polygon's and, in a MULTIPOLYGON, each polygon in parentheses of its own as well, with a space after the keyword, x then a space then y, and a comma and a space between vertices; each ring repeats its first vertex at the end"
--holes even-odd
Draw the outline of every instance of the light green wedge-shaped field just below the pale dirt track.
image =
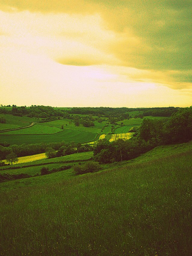
POLYGON ((1 133, 1 135, 9 135, 9 134, 53 134, 57 132, 61 132, 62 129, 57 127, 51 127, 51 126, 42 126, 39 124, 34 124, 31 127, 20 129, 20 130, 13 130, 1 133))

